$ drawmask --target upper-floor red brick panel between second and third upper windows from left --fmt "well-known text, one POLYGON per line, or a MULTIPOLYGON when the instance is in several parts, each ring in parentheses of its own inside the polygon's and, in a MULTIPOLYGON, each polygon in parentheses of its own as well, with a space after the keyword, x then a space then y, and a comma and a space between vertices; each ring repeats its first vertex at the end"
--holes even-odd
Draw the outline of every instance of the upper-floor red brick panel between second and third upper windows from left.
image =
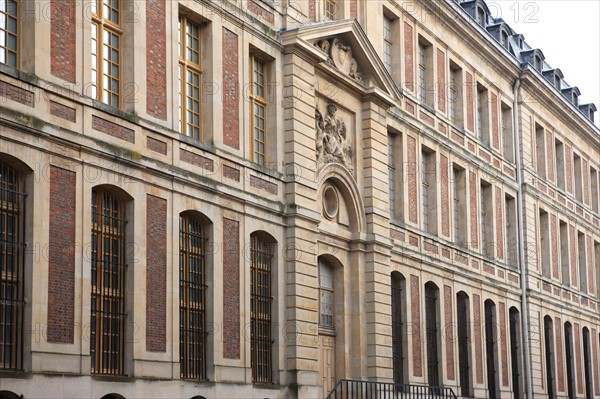
POLYGON ((167 119, 165 0, 146 0, 146 112, 167 119))

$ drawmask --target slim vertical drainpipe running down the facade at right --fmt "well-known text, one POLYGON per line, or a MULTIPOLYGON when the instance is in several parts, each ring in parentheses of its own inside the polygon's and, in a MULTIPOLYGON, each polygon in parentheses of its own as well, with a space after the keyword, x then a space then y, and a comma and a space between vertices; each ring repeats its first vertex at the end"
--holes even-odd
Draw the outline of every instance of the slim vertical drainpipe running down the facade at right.
POLYGON ((517 78, 513 86, 513 142, 514 156, 517 168, 517 229, 519 234, 519 270, 521 271, 521 324, 523 325, 523 368, 525 372, 525 397, 532 398, 530 337, 529 337, 529 306, 527 303, 527 270, 525 269, 525 232, 523 231, 523 173, 521 170, 521 127, 519 124, 519 89, 521 78, 517 78))

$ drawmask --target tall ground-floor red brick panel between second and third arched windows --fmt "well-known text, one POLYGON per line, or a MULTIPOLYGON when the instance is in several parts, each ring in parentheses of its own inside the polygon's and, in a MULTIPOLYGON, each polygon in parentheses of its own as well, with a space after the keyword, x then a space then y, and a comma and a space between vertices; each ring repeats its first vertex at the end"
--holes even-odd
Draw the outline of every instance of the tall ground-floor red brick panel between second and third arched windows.
POLYGON ((167 345, 167 200, 146 196, 146 350, 167 345))

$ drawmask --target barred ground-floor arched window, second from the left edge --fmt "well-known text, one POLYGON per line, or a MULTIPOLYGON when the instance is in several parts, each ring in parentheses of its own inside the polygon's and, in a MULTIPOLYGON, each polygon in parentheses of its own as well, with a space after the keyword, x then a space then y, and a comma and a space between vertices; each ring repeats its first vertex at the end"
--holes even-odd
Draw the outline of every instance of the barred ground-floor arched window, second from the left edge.
POLYGON ((124 373, 124 201, 103 188, 92 190, 92 373, 124 373))

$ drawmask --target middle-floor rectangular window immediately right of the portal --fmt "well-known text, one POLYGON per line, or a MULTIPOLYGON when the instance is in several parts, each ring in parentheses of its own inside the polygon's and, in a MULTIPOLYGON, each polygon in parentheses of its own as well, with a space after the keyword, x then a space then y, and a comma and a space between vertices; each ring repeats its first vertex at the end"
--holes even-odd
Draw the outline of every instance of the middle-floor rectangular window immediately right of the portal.
POLYGON ((388 183, 390 218, 404 220, 402 135, 388 133, 388 183))

